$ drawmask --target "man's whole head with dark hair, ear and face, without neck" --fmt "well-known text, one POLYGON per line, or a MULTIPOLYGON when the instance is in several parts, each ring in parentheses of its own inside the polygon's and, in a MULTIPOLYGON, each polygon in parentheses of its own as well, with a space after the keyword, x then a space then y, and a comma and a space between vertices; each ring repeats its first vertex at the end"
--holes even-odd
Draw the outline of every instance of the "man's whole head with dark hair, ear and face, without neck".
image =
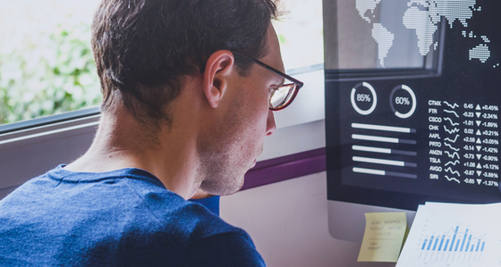
POLYGON ((103 113, 183 129, 175 141, 195 140, 200 188, 236 192, 276 129, 269 100, 284 83, 238 54, 284 71, 276 15, 272 0, 103 0, 92 25, 103 113))

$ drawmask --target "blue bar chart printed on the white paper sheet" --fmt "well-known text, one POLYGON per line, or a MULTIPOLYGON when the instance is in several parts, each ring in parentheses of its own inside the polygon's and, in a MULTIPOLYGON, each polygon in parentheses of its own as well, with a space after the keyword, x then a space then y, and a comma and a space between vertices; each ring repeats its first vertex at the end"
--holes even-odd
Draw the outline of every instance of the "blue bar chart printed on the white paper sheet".
POLYGON ((450 266, 465 263, 466 266, 473 266, 471 263, 481 263, 482 254, 488 247, 488 234, 456 225, 442 233, 424 231, 418 247, 420 253, 417 260, 422 263, 449 263, 450 266))

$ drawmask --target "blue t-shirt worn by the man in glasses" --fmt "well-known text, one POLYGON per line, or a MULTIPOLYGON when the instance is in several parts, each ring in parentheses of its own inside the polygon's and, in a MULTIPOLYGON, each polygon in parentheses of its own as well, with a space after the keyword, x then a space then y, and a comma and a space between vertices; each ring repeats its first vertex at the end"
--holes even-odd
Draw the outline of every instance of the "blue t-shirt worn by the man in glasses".
POLYGON ((147 171, 63 167, 0 201, 1 266, 265 266, 244 230, 147 171))

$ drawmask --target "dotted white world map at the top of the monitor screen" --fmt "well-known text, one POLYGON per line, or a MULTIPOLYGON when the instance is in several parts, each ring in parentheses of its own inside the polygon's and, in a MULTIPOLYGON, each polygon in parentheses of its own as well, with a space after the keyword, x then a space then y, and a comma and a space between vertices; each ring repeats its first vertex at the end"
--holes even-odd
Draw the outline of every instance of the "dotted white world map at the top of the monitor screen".
MULTIPOLYGON (((380 2, 381 0, 356 0, 356 8, 361 18, 372 24, 372 38, 378 43, 378 59, 384 68, 388 51, 394 45, 395 34, 381 23, 373 23, 371 20, 380 2)), ((473 17, 473 12, 481 11, 481 6, 475 7, 476 4, 476 0, 412 0, 407 3, 407 10, 403 14, 403 26, 415 30, 420 54, 426 56, 430 49, 437 49, 438 41, 434 42, 433 35, 438 29, 438 23, 446 18, 451 29, 454 21, 460 21, 468 29, 468 20, 473 17)), ((479 45, 471 47, 469 57, 470 60, 487 63, 490 57, 489 38, 483 35, 477 37, 472 30, 463 30, 463 38, 479 38, 479 45)), ((493 67, 497 68, 499 64, 494 64, 493 67)))

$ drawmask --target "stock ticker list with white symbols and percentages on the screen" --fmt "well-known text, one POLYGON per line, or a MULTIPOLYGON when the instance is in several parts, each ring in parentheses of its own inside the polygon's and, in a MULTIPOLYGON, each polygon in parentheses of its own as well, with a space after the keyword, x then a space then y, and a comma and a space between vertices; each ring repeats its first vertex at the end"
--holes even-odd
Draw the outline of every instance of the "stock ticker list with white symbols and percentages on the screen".
POLYGON ((428 101, 429 179, 498 187, 498 105, 428 101))

